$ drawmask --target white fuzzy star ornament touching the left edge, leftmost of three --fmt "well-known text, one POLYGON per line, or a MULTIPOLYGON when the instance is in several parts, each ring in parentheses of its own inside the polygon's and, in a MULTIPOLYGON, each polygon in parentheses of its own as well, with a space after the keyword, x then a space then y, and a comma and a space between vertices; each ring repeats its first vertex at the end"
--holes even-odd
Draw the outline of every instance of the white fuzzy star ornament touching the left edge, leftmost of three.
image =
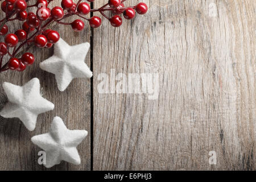
POLYGON ((19 118, 30 131, 35 129, 39 114, 54 109, 52 102, 40 95, 38 78, 33 78, 23 86, 4 82, 3 89, 9 102, 3 107, 0 115, 4 118, 19 118))

